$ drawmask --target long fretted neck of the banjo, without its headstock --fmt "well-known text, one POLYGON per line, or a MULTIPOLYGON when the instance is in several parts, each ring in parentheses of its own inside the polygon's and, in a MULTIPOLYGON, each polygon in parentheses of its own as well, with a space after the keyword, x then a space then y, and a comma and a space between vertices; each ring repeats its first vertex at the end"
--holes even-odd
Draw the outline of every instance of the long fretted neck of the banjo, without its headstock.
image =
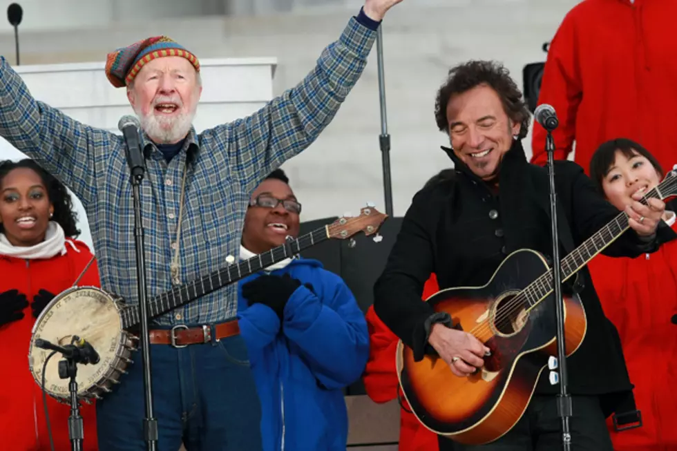
MULTIPOLYGON (((303 249, 307 249, 315 244, 328 240, 329 237, 330 233, 328 226, 321 227, 320 229, 306 233, 295 240, 289 240, 285 242, 285 244, 275 247, 270 251, 260 253, 257 256, 242 260, 238 263, 233 263, 233 265, 213 271, 211 274, 207 274, 207 276, 203 276, 192 282, 178 285, 170 291, 166 291, 151 299, 148 306, 149 317, 155 318, 176 307, 190 303, 205 294, 221 289, 222 287, 256 273, 256 271, 260 271, 261 269, 285 260, 285 258, 291 258, 303 249)), ((135 327, 140 324, 140 321, 141 314, 138 306, 129 307, 122 311, 122 327, 124 329, 135 327)))

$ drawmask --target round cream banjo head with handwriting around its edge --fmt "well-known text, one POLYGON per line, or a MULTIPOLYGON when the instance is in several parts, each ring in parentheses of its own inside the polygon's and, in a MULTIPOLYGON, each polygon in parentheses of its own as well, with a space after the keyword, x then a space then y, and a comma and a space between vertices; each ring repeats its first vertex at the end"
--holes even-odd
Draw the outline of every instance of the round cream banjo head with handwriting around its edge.
MULTIPOLYGON (((42 386, 42 371, 46 358, 53 351, 35 346, 42 338, 55 345, 71 344, 74 335, 87 340, 99 354, 99 363, 77 365, 77 394, 80 399, 98 397, 109 391, 112 376, 122 372, 121 360, 129 354, 127 334, 122 329, 120 303, 97 287, 73 287, 56 296, 35 321, 28 349, 28 366, 35 382, 42 386), (116 368, 120 367, 120 370, 116 368), (103 388, 102 388, 103 387, 103 388)), ((68 401, 69 379, 59 377, 57 352, 50 358, 45 370, 45 391, 59 401, 68 401)), ((114 381, 117 382, 117 381, 114 381)))

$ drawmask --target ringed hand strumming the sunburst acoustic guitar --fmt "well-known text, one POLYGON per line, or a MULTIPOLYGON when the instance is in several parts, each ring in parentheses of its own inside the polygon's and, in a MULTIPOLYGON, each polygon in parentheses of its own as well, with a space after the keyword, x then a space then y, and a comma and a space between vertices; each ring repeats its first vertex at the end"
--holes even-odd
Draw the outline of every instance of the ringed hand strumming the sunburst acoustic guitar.
POLYGON ((470 376, 481 368, 484 365, 482 358, 489 352, 475 336, 442 324, 432 325, 428 343, 459 377, 470 376))

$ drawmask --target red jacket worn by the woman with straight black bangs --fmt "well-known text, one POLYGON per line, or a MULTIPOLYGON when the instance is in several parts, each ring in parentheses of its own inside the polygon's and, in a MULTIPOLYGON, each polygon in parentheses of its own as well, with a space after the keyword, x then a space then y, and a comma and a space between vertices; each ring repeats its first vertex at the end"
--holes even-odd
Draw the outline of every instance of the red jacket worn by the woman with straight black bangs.
MULTIPOLYGON (((677 231, 677 225, 672 228, 677 231)), ((677 450, 677 241, 637 258, 588 263, 604 314, 616 325, 642 427, 615 432, 616 451, 677 450)))

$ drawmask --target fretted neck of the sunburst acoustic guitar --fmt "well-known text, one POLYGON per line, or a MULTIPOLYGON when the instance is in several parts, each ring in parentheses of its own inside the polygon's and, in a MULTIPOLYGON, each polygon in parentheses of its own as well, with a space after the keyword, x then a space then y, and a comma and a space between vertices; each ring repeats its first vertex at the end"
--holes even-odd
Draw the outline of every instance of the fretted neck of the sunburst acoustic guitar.
MULTIPOLYGON (((668 188, 662 186, 669 181, 664 181, 656 188, 645 194, 645 199, 658 198, 662 199, 661 188, 668 188)), ((670 181, 674 184, 674 181, 670 181)), ((597 231, 593 236, 588 238, 579 247, 571 251, 568 256, 560 261, 560 269, 562 272, 562 282, 574 276, 582 267, 592 260, 598 253, 606 249, 609 244, 614 242, 624 231, 629 229, 629 218, 627 213, 622 212, 616 218, 613 218, 609 224, 605 225, 597 231)), ((553 269, 550 269, 545 274, 531 282, 526 287, 523 293, 526 295, 530 307, 534 307, 554 291, 554 274, 553 269)))

